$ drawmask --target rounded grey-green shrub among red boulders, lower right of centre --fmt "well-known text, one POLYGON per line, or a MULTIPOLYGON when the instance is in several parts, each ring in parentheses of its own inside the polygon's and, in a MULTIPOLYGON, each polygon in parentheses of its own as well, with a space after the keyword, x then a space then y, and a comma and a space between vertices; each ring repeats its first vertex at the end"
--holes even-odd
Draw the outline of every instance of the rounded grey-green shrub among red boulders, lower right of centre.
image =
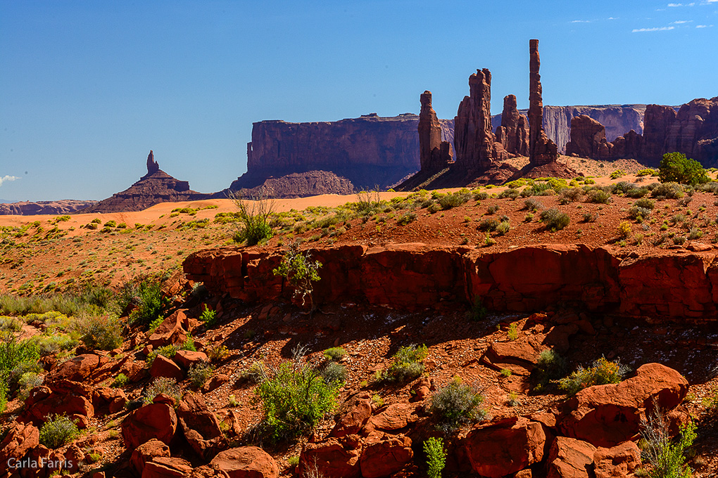
POLYGON ((485 411, 480 408, 483 401, 475 387, 454 377, 447 386, 434 393, 430 411, 437 421, 437 428, 451 433, 462 424, 484 419, 485 411))

